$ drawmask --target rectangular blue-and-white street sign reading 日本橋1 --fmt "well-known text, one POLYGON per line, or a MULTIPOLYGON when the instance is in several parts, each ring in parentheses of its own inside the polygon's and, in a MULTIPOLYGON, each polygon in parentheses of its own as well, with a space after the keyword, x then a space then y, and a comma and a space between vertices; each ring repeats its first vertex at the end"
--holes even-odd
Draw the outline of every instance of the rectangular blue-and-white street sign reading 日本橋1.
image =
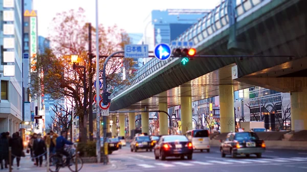
POLYGON ((143 58, 148 56, 148 45, 125 45, 125 58, 143 58))

